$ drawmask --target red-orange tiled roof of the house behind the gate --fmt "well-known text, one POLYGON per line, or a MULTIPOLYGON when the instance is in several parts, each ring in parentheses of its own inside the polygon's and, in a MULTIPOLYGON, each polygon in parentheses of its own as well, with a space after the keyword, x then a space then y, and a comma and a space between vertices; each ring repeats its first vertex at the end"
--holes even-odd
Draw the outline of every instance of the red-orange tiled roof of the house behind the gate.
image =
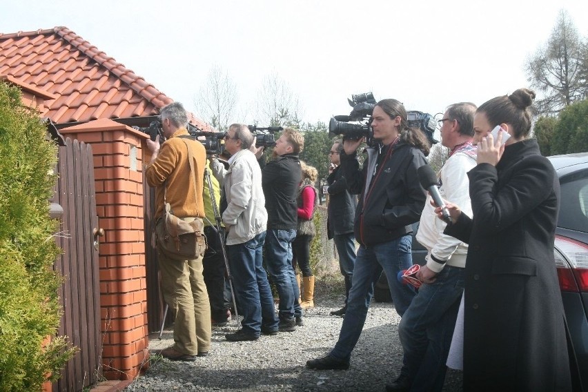
MULTIPOLYGON (((157 115, 173 99, 65 27, 0 34, 0 75, 57 95, 56 124, 157 115)), ((190 114, 190 122, 209 128, 190 114)))

